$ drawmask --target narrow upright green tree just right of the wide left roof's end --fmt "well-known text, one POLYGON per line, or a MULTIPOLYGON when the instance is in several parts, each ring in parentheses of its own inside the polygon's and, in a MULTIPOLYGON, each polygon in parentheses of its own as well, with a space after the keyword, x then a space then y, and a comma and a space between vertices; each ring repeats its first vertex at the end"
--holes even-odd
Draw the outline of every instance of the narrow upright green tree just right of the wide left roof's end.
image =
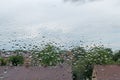
POLYGON ((73 79, 74 80, 79 80, 79 79, 83 79, 83 71, 85 70, 84 65, 85 63, 83 61, 81 61, 81 59, 85 56, 86 54, 86 50, 84 47, 74 47, 72 50, 72 69, 73 69, 73 79), (81 65, 78 65, 79 64, 81 65))

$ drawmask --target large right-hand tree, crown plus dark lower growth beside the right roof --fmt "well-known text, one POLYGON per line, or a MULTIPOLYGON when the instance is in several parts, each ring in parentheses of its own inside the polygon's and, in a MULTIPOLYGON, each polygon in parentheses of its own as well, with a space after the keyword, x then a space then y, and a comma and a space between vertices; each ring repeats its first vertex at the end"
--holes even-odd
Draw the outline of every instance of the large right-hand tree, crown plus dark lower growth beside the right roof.
POLYGON ((94 65, 112 64, 112 50, 103 46, 95 46, 89 49, 85 56, 85 62, 87 63, 84 75, 91 79, 92 69, 94 65))

